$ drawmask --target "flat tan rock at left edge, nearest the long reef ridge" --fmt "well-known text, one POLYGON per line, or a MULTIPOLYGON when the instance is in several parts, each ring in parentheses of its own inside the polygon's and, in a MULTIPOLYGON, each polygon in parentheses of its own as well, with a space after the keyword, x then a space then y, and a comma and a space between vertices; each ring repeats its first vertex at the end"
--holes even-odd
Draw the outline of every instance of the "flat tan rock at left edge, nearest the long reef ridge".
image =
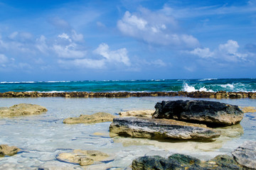
POLYGON ((0 108, 0 116, 11 117, 20 115, 37 115, 46 111, 47 109, 43 106, 21 103, 9 108, 0 108))

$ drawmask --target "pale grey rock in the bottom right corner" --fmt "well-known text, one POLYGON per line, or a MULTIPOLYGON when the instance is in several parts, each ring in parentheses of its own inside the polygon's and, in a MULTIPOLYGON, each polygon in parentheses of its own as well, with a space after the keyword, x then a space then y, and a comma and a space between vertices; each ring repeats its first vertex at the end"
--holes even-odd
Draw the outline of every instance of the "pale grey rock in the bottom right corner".
POLYGON ((256 141, 247 141, 232 152, 235 161, 249 169, 256 169, 256 141))

